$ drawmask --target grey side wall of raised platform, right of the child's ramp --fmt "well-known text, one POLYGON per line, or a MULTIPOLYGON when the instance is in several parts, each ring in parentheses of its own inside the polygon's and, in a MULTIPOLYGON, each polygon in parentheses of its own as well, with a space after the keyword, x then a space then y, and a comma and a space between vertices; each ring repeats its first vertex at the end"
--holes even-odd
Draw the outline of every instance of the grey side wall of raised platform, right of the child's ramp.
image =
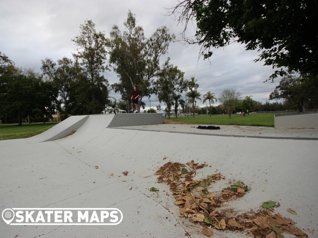
POLYGON ((162 113, 118 113, 108 127, 162 124, 162 113))

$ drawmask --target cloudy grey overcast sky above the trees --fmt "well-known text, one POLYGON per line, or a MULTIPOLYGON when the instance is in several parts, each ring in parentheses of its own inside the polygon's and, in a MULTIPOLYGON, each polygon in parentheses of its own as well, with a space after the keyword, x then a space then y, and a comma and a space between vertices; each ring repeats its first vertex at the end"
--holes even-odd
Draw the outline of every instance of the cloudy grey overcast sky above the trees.
MULTIPOLYGON (((63 56, 72 57, 76 47, 71 38, 79 35, 79 25, 85 20, 93 20, 96 29, 105 31, 108 37, 114 24, 123 29, 129 9, 136 15, 137 24, 144 28, 146 37, 158 26, 166 25, 178 38, 183 26, 177 26, 173 16, 165 16, 169 11, 165 8, 171 8, 176 3, 174 0, 1 1, 0 51, 17 66, 41 73, 41 59, 48 57, 56 61, 63 56)), ((187 33, 193 34, 194 28, 189 27, 187 33)), ((171 43, 169 53, 163 56, 162 62, 169 56, 170 62, 185 72, 186 79, 196 77, 201 97, 209 90, 218 97, 223 89, 236 88, 242 96, 252 95, 253 100, 265 102, 279 83, 279 79, 274 83, 263 83, 273 69, 262 62, 254 63, 259 52, 246 51, 244 45, 235 43, 225 49, 215 49, 211 63, 208 60, 198 61, 198 50, 197 45, 171 43)), ((107 78, 109 83, 118 81, 112 72, 108 72, 107 78)), ((120 98, 119 94, 114 96, 120 98)), ((152 107, 159 104, 155 102, 156 96, 150 100, 152 107)))

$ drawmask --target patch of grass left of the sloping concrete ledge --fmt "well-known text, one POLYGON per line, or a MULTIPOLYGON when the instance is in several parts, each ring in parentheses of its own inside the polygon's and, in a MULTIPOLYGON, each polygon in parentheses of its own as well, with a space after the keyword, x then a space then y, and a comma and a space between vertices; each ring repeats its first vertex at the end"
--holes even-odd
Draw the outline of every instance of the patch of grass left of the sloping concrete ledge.
POLYGON ((14 124, 0 124, 0 140, 27 138, 38 135, 59 122, 34 122, 22 123, 22 126, 14 124))

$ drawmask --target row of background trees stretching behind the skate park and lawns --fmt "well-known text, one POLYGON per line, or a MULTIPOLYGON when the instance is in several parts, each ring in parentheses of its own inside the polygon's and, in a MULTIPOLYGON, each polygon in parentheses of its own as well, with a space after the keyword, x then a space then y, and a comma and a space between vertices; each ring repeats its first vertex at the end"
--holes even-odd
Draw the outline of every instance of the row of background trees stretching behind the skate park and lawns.
MULTIPOLYGON (((196 12, 193 16, 202 17, 197 14, 196 12)), ((211 16, 214 17, 214 13, 211 16)), ((206 33, 202 31, 204 18, 200 18, 199 25, 199 34, 202 33, 202 36, 206 33)), ((213 18, 212 22, 215 20, 213 18)), ((169 57, 160 64, 175 35, 170 34, 166 26, 162 26, 147 38, 142 26, 136 24, 135 15, 131 11, 123 25, 123 30, 114 25, 107 38, 104 32, 96 30, 92 20, 86 20, 79 27, 79 35, 71 39, 76 46, 73 58, 62 57, 57 61, 43 59, 42 74, 16 67, 8 56, 0 52, 0 120, 3 123, 18 122, 22 125, 25 120, 29 123, 45 123, 55 110, 62 114, 61 119, 66 119, 68 115, 100 114, 106 112, 107 108, 114 112, 116 109, 127 111, 134 84, 138 85, 141 98, 150 98, 151 94, 156 94, 158 101, 166 105, 168 118, 173 109, 177 115, 179 106, 183 112, 194 112, 193 116, 195 113, 208 113, 210 116, 226 113, 229 117, 235 112, 286 109, 302 111, 317 108, 317 76, 309 68, 299 77, 290 72, 275 72, 273 78, 277 75, 284 77, 270 95, 269 99, 274 102, 256 102, 252 100, 252 96, 241 98, 235 89, 225 89, 218 97, 211 91, 206 92, 203 102, 209 102, 209 106, 198 107, 197 103, 202 99, 197 80, 194 77, 185 79, 184 72, 171 64, 169 57), (112 85, 105 78, 109 70, 113 70, 118 76, 118 82, 112 85), (112 90, 120 93, 120 100, 109 96, 112 90), (181 96, 183 92, 185 98, 181 96), (214 102, 221 102, 221 105, 214 107, 214 102)), ((226 36, 226 41, 237 34, 226 36)), ((201 35, 197 37, 200 38, 201 35)), ((210 43, 216 40, 213 37, 210 43)), ((209 44, 205 47, 204 57, 211 56, 209 44)), ((264 56, 267 53, 268 51, 263 51, 260 59, 269 60, 270 57, 264 56)), ((277 62, 270 64, 279 66, 277 62)), ((296 66, 288 69, 301 71, 296 66)), ((142 100, 138 104, 139 109, 145 108, 142 100)))

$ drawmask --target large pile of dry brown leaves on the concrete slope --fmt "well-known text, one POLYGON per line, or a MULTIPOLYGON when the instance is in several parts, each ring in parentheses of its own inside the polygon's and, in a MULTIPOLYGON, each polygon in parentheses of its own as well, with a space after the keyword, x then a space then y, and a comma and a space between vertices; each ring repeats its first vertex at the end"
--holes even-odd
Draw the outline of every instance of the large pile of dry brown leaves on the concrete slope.
POLYGON ((220 209, 224 202, 238 199, 248 191, 248 186, 242 181, 233 183, 222 191, 211 192, 208 189, 220 179, 225 179, 220 173, 207 175, 201 180, 193 180, 197 169, 206 164, 190 161, 186 164, 167 162, 158 171, 158 183, 169 185, 175 197, 175 205, 180 208, 180 216, 184 216, 190 222, 199 223, 202 233, 207 236, 213 234, 211 228, 219 230, 235 230, 254 237, 282 238, 282 233, 289 233, 298 237, 308 237, 301 229, 294 226, 294 221, 282 217, 280 214, 272 214, 270 209, 259 209, 237 215, 238 212, 231 209, 220 209), (220 211, 218 211, 218 209, 220 211))

